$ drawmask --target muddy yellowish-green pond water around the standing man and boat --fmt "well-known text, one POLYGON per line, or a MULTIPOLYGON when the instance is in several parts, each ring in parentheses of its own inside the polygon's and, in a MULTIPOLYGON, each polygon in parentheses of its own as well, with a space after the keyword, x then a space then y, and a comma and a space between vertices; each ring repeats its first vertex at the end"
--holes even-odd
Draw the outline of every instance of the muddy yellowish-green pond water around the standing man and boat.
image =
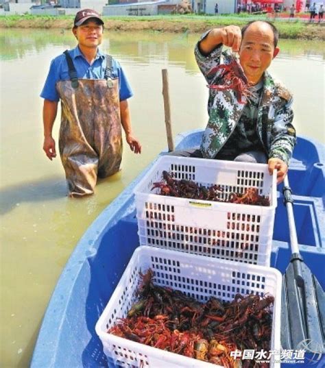
MULTIPOLYGON (((102 50, 121 62, 134 90, 132 125, 143 154, 125 145, 122 171, 99 182, 93 197, 73 200, 60 158, 50 162, 43 154, 39 94, 51 59, 75 39, 60 29, 1 30, 1 367, 29 365, 49 297, 78 239, 166 147, 161 69, 169 71, 173 134, 206 125, 208 89, 193 56, 199 36, 105 34, 102 50)), ((324 42, 282 40, 280 49, 270 71, 294 94, 298 134, 324 143, 324 42)))

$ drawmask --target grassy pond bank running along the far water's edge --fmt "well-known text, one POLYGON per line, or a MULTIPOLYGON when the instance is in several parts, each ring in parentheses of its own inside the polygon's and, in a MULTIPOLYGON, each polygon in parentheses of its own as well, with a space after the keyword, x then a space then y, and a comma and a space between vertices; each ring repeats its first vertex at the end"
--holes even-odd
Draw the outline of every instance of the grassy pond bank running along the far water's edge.
MULTIPOLYGON (((103 17, 106 29, 152 32, 191 32, 201 33, 211 27, 224 27, 225 25, 243 26, 252 20, 252 16, 114 16, 103 17)), ((253 19, 267 20, 266 16, 253 19)), ((60 28, 69 29, 73 16, 2 16, 0 28, 60 28)), ((281 38, 293 38, 304 40, 325 40, 325 27, 323 24, 302 23, 300 21, 276 21, 281 38)))

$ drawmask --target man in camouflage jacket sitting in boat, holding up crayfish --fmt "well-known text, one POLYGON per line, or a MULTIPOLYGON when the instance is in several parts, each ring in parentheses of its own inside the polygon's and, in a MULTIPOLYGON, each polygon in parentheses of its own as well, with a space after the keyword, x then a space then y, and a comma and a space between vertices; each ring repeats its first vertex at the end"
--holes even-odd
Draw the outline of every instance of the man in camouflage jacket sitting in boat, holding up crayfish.
POLYGON ((234 90, 210 88, 208 125, 200 149, 174 151, 173 156, 267 163, 278 170, 278 183, 287 174, 296 143, 292 125, 293 97, 267 72, 279 52, 278 30, 267 21, 252 21, 243 29, 235 25, 215 28, 202 35, 195 58, 209 85, 226 84, 222 73, 210 73, 219 64, 230 64, 230 51, 248 79, 250 99, 239 101, 234 90))

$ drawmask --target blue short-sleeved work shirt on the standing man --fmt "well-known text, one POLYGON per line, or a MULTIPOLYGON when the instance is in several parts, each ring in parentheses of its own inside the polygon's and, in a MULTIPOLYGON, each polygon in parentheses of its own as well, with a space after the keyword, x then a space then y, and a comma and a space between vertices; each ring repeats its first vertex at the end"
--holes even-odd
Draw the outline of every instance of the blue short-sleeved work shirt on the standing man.
MULTIPOLYGON (((104 79, 106 69, 106 57, 99 49, 97 49, 97 55, 93 64, 89 64, 79 47, 75 47, 69 51, 69 54, 73 60, 75 70, 77 71, 77 77, 79 79, 104 79)), ((123 69, 117 60, 112 58, 112 78, 119 78, 119 99, 123 101, 133 95, 128 80, 125 77, 123 69)), ((49 74, 45 81, 42 93, 40 97, 43 99, 49 99, 50 101, 59 101, 60 97, 56 90, 56 82, 59 80, 67 80, 69 77, 69 68, 65 55, 57 56, 51 61, 49 67, 49 74)))

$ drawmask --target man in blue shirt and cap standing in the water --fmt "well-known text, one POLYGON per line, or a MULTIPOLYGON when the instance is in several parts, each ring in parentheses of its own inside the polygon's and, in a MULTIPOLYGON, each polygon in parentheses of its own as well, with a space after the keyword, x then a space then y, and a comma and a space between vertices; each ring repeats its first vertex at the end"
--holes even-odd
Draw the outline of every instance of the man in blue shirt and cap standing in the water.
POLYGON ((52 137, 58 101, 62 103, 59 148, 69 195, 94 191, 97 176, 119 171, 122 154, 121 125, 130 149, 141 153, 128 108, 132 90, 119 62, 98 46, 104 22, 91 9, 77 12, 73 34, 78 45, 53 59, 41 97, 44 98, 44 145, 47 157, 56 157, 52 137))

